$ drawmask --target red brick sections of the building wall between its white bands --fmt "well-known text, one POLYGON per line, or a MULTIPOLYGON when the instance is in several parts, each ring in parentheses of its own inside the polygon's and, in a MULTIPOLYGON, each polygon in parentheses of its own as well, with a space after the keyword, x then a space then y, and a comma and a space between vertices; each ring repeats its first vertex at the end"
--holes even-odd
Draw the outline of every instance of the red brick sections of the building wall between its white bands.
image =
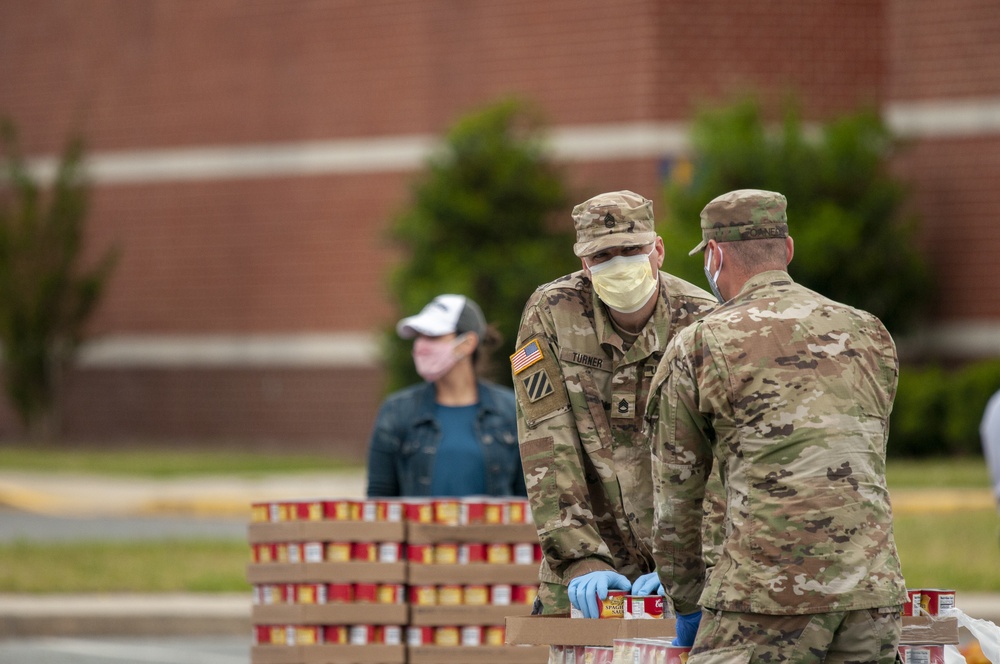
MULTIPOLYGON (((0 114, 29 154, 58 151, 74 131, 91 154, 436 135, 511 92, 556 127, 682 122, 748 90, 772 105, 797 93, 808 117, 825 117, 1000 96, 998 14, 973 0, 2 3, 0 114)), ((928 250, 948 273, 942 316, 997 315, 996 293, 975 288, 998 281, 1000 261, 966 264, 956 239, 995 242, 996 150, 991 140, 921 141, 898 164, 933 220, 928 250), (980 168, 968 167, 970 151, 980 168)), ((621 188, 657 200, 658 167, 644 157, 567 170, 581 200, 621 188)), ((114 243, 123 253, 93 329, 375 333, 397 313, 385 230, 412 176, 101 187, 91 251, 114 243)), ((377 369, 87 369, 73 378, 67 429, 363 447, 380 390, 377 369), (272 398, 278 384, 283 396, 272 398)), ((0 433, 12 430, 0 408, 0 433)))

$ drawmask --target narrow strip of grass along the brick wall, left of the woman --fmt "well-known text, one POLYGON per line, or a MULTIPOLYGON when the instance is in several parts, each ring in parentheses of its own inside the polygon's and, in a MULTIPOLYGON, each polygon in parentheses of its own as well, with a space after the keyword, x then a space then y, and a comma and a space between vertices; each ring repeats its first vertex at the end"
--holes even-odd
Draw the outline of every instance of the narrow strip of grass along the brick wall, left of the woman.
POLYGON ((0 468, 114 476, 180 477, 184 475, 260 476, 351 470, 361 462, 305 454, 239 451, 179 451, 162 448, 115 450, 67 449, 51 446, 0 445, 0 468))

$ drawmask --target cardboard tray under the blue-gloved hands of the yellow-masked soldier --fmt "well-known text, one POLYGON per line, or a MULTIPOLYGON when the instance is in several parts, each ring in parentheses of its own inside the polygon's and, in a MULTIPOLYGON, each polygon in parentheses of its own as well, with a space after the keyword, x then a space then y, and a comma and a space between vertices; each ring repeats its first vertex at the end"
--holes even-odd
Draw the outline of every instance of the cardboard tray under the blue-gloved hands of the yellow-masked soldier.
POLYGON ((621 620, 558 616, 507 618, 506 641, 511 645, 613 646, 615 639, 673 637, 672 618, 621 620))

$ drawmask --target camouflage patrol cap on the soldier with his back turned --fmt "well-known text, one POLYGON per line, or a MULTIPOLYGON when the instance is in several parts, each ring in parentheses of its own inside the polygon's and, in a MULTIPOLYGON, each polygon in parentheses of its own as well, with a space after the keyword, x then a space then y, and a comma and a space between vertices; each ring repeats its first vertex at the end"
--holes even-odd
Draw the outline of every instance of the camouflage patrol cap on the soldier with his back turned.
POLYGON ((708 244, 737 240, 788 237, 785 197, 776 191, 737 189, 712 199, 701 211, 701 242, 693 256, 708 244))

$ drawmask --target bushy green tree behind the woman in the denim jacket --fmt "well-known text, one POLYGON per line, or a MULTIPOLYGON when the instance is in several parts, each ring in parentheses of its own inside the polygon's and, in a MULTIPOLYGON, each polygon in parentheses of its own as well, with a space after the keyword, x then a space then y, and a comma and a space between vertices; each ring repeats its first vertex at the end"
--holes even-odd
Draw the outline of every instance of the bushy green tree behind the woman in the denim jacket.
MULTIPOLYGON (((412 206, 392 224, 405 259, 391 277, 400 315, 441 293, 475 300, 504 338, 492 377, 510 384, 508 363, 532 291, 579 263, 560 173, 543 156, 539 115, 505 100, 459 120, 413 185, 412 206)), ((419 380, 409 342, 386 334, 389 389, 419 380)))

